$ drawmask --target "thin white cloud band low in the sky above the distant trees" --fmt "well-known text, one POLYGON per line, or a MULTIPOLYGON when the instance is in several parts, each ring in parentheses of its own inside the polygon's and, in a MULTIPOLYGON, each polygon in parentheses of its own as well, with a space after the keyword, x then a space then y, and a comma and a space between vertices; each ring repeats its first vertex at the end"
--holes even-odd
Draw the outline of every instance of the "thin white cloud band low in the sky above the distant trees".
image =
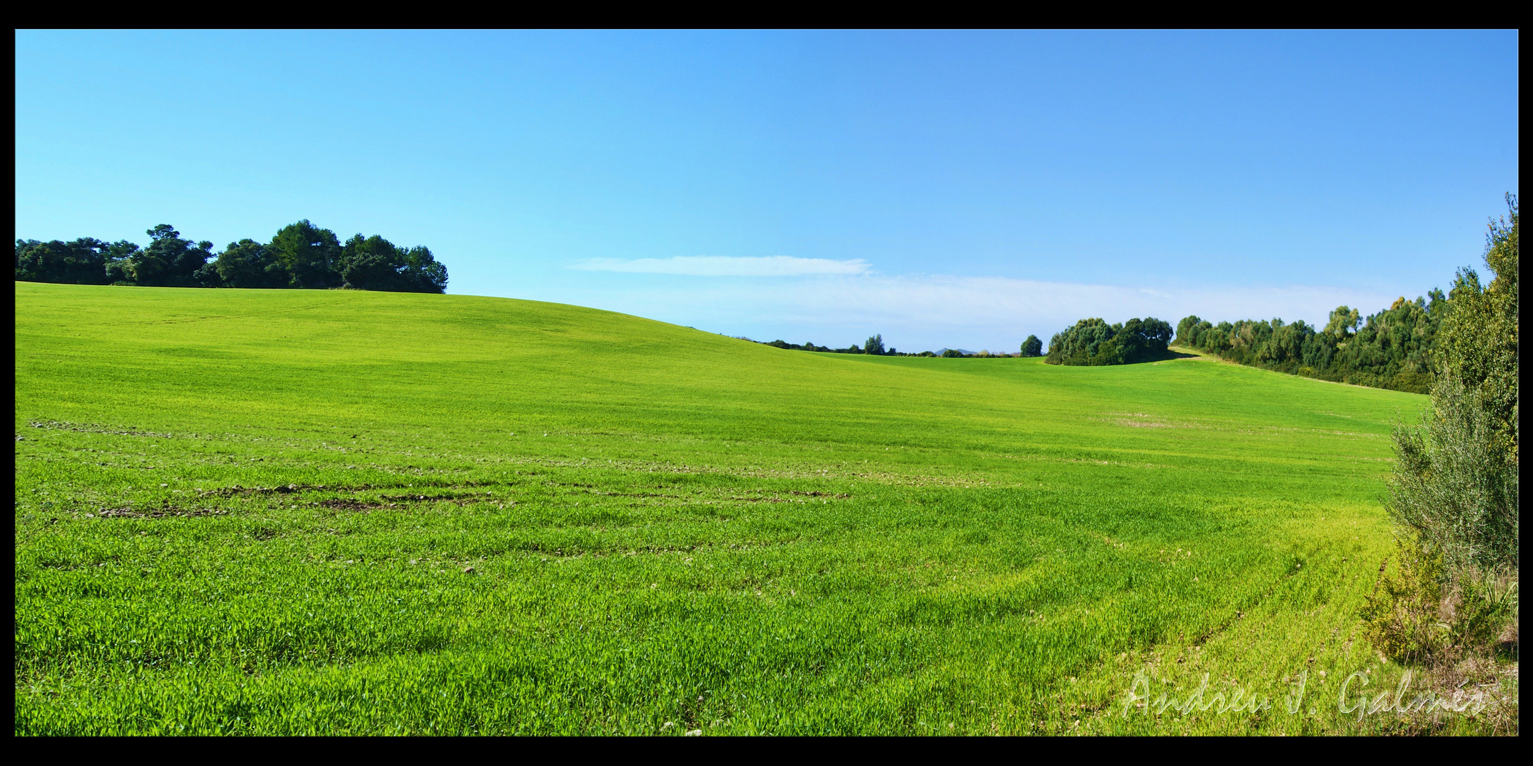
MULTIPOLYGON (((728 259, 744 260, 744 259, 728 259)), ((808 260, 808 259, 793 259, 808 260)), ((958 276, 828 276, 786 282, 644 283, 579 291, 561 299, 587 306, 757 340, 806 339, 840 346, 881 332, 901 349, 1015 351, 1029 334, 1044 340, 1085 317, 1124 322, 1188 314, 1325 323, 1346 303, 1371 314, 1397 297, 1328 286, 1119 286, 958 276), (615 288, 615 290, 613 290, 615 288)), ((1415 296, 1407 296, 1415 297, 1415 296)))

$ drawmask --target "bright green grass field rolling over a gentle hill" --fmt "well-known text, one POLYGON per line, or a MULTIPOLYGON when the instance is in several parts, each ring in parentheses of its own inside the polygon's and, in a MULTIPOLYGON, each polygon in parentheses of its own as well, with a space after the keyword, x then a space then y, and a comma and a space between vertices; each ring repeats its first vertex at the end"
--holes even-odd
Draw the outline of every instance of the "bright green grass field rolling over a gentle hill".
POLYGON ((1337 692, 1389 673, 1355 611, 1426 397, 469 296, 15 299, 17 734, 1392 731, 1337 692), (1271 709, 1125 717, 1136 673, 1271 709))

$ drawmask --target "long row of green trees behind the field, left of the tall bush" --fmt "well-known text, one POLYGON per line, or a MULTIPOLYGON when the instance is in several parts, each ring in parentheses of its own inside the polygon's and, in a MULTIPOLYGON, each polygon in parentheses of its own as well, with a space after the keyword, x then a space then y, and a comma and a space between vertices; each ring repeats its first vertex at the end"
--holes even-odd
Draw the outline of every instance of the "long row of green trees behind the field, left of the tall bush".
MULTIPOLYGON (((1461 288, 1456 285, 1455 294, 1461 288)), ((1450 303, 1441 290, 1427 296, 1430 300, 1400 297, 1361 328, 1358 311, 1348 306, 1337 306, 1323 329, 1282 319, 1211 325, 1191 316, 1177 322, 1176 343, 1294 375, 1426 394, 1432 389, 1432 346, 1450 303)))

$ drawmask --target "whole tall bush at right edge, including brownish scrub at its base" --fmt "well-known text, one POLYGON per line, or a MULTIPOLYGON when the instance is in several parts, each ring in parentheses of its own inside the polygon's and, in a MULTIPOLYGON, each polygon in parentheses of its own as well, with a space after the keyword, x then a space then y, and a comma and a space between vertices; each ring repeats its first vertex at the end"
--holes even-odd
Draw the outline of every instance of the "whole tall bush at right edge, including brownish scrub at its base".
POLYGON ((1518 633, 1518 202, 1490 225, 1485 288, 1461 270, 1443 320, 1432 401, 1393 429, 1387 510, 1398 565, 1361 616, 1401 662, 1492 657, 1518 633))

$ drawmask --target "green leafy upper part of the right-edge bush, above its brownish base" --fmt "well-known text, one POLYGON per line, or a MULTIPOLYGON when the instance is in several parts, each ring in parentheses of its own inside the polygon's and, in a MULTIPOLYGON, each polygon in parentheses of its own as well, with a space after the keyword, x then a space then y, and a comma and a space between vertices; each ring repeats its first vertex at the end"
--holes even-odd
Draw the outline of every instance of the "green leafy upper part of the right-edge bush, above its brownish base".
POLYGON ((1518 208, 1492 224, 1481 288, 1459 271, 1436 349, 1432 408, 1393 430, 1389 512, 1452 573, 1518 565, 1518 208))

